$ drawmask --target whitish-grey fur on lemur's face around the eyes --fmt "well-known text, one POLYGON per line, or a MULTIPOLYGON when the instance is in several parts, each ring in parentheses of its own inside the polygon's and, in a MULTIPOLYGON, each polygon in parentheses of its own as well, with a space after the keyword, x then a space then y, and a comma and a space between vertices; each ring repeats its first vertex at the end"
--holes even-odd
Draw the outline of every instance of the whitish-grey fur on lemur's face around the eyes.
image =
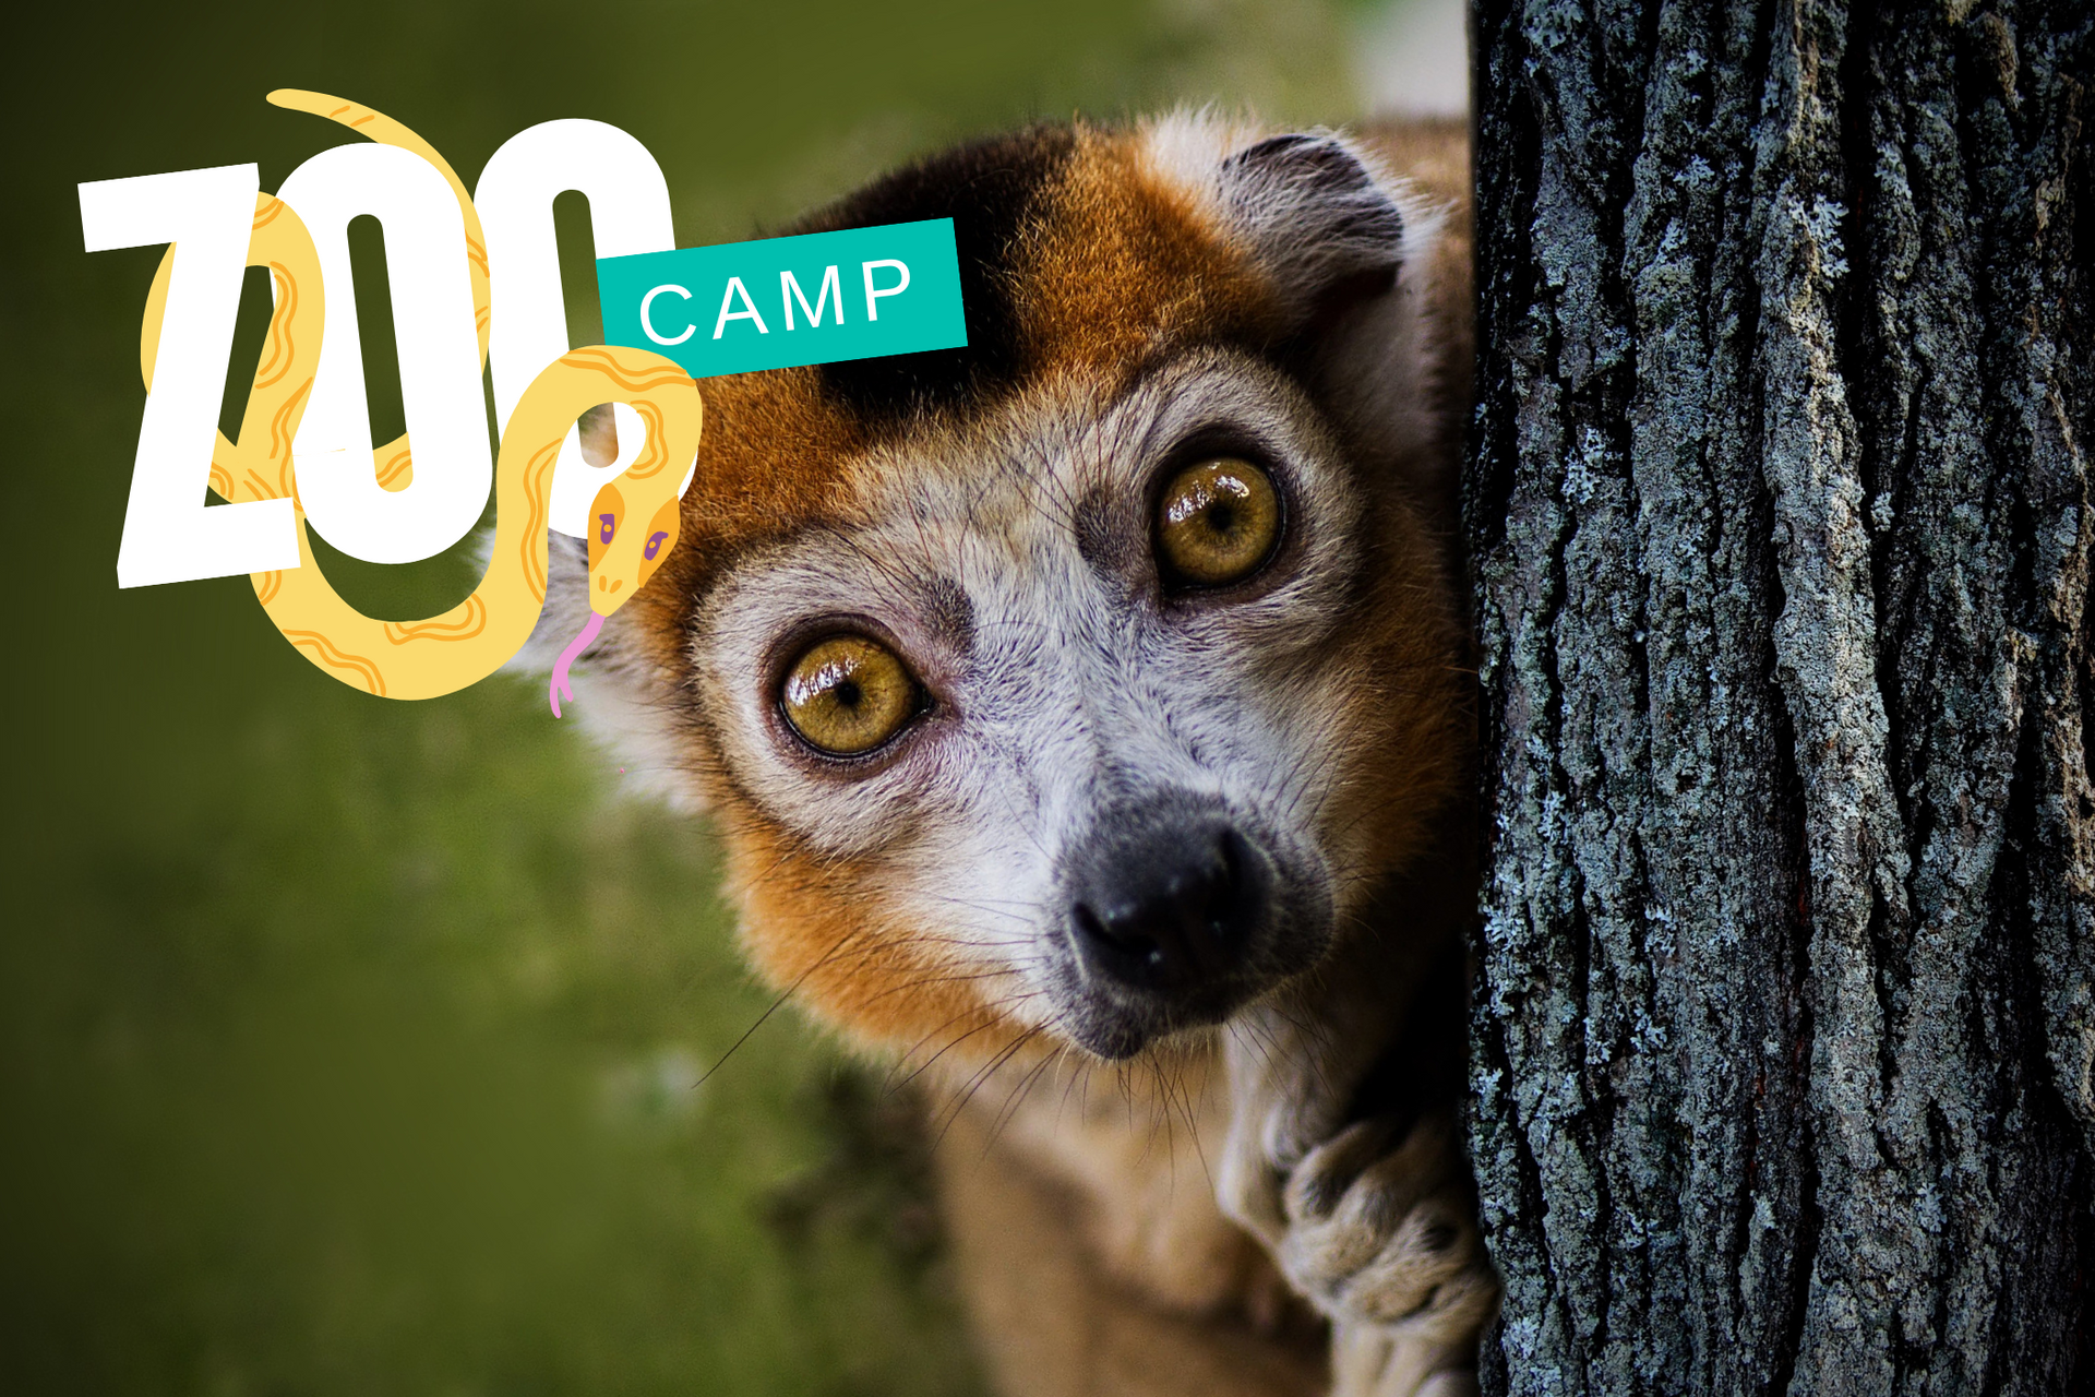
POLYGON ((1203 350, 1110 400, 1062 381, 857 463, 851 488, 842 524, 735 566, 691 653, 735 785, 813 852, 872 869, 872 913, 1016 974, 1037 991, 1020 1018, 1048 1022, 1068 1007, 1050 993, 1066 982, 1050 974, 1058 861, 1104 811, 1165 788, 1217 798, 1337 901, 1349 869, 1318 831, 1345 687, 1322 670, 1360 517, 1288 379, 1203 350), (1159 473, 1211 438, 1267 465, 1286 532, 1255 580, 1169 597, 1150 551, 1159 473), (811 752, 777 710, 784 666, 836 630, 890 645, 932 697, 872 758, 811 752))

